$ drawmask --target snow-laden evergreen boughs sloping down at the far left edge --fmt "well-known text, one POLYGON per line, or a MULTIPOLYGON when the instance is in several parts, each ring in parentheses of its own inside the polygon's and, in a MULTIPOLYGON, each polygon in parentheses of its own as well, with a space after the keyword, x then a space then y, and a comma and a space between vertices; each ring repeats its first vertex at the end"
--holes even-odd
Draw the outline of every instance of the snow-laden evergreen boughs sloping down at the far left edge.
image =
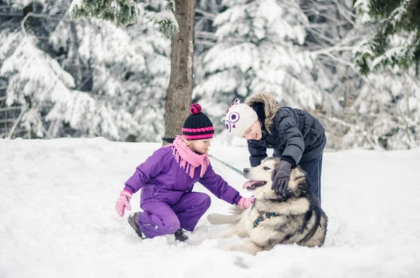
POLYGON ((27 137, 57 137, 68 123, 87 136, 102 132, 119 139, 108 111, 85 92, 72 90, 71 75, 36 48, 35 39, 15 32, 0 48, 0 75, 8 78, 6 102, 22 104, 17 124, 25 127, 27 137))

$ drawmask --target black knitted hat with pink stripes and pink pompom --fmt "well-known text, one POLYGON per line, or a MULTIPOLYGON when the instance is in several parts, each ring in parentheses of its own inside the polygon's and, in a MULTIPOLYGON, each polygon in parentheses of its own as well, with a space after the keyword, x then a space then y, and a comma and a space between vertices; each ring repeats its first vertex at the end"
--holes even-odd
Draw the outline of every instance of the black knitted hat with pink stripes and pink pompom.
POLYGON ((190 107, 191 115, 188 116, 182 127, 182 134, 188 140, 200 140, 213 138, 214 127, 209 117, 202 113, 200 104, 193 104, 190 107))

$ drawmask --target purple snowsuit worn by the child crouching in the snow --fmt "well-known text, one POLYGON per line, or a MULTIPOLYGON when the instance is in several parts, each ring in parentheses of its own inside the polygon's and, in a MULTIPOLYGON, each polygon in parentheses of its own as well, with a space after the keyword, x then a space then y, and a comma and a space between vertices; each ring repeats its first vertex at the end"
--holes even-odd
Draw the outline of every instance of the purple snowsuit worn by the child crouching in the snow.
POLYGON ((180 227, 193 231, 204 212, 210 207, 210 196, 191 192, 199 181, 218 198, 237 204, 241 196, 216 174, 209 165, 200 178, 201 166, 192 179, 176 162, 173 148, 165 146, 155 151, 125 182, 125 189, 136 193, 141 188, 137 225, 147 237, 172 234, 180 227))

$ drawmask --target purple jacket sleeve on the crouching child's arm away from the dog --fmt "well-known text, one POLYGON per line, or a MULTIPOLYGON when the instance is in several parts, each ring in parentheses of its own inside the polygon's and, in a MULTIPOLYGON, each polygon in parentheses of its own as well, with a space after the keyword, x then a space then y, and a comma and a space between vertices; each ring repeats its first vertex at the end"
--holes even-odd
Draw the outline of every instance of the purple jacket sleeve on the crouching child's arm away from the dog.
POLYGON ((154 176, 162 172, 172 158, 172 149, 170 147, 160 148, 149 156, 145 162, 137 166, 136 172, 125 182, 125 190, 136 193, 154 176))

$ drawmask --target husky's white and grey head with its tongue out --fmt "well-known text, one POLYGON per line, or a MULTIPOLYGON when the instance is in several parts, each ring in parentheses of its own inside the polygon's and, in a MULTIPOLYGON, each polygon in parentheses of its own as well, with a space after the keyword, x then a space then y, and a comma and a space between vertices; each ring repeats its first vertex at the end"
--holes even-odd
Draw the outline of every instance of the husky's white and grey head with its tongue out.
MULTIPOLYGON (((242 188, 251 191, 257 200, 284 199, 286 196, 276 195, 274 190, 271 189, 272 172, 279 162, 279 158, 266 158, 258 166, 245 168, 244 177, 250 181, 246 182, 242 188)), ((297 195, 300 191, 299 184, 303 179, 306 179, 306 173, 300 167, 293 168, 288 181, 288 193, 290 195, 297 195)))

